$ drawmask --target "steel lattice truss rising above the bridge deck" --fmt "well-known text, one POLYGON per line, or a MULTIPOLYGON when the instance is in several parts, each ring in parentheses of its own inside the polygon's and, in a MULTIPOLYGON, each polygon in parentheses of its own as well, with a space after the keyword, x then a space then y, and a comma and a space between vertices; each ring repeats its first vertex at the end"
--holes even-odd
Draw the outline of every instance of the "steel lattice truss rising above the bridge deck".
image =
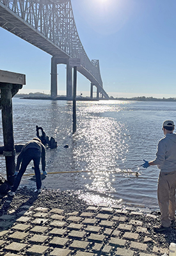
POLYGON ((44 35, 81 65, 102 86, 99 61, 90 61, 77 33, 71 0, 0 0, 15 15, 44 35))

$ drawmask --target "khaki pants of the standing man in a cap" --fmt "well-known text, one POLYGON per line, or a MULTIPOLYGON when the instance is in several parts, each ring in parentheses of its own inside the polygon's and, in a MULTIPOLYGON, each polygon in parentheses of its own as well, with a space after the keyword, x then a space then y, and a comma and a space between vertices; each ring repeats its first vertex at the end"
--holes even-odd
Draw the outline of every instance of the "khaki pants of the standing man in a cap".
POLYGON ((161 224, 170 227, 172 220, 175 220, 175 189, 176 171, 160 172, 157 183, 157 200, 161 211, 161 224))

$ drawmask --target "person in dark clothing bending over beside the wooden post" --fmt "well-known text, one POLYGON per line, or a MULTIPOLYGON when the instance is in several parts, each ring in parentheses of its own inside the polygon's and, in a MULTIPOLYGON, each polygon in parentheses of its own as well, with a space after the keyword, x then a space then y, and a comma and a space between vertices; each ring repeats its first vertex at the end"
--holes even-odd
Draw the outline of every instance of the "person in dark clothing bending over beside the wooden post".
POLYGON ((15 175, 17 175, 15 179, 15 183, 12 186, 11 191, 8 192, 8 195, 14 196, 15 191, 19 187, 20 180, 22 175, 26 171, 28 164, 33 160, 34 168, 35 168, 35 177, 36 177, 36 191, 40 193, 42 191, 42 181, 40 176, 40 159, 42 159, 42 171, 45 172, 45 147, 42 144, 42 141, 38 138, 33 138, 33 140, 28 141, 26 145, 22 148, 19 156, 17 157, 17 166, 15 175), (21 164, 21 166, 20 166, 21 164), (20 170, 19 170, 20 168, 20 170))

